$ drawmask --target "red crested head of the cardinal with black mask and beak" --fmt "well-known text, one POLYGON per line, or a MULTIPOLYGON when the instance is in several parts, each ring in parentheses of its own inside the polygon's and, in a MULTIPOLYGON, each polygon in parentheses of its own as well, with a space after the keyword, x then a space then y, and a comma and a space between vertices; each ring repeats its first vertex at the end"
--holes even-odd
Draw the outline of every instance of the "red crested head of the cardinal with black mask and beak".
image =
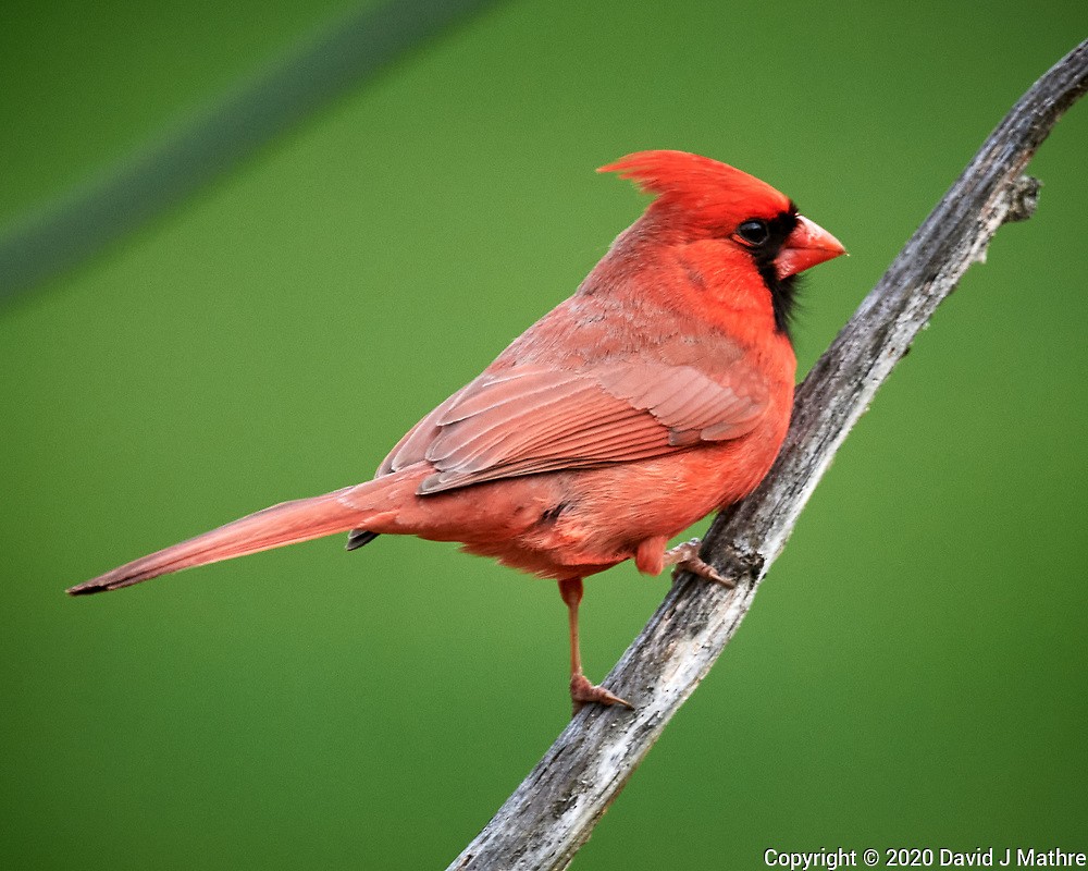
POLYGON ((786 332, 798 273, 846 249, 784 194, 727 163, 687 151, 638 151, 602 167, 656 195, 644 221, 671 244, 715 241, 727 260, 750 261, 786 332))

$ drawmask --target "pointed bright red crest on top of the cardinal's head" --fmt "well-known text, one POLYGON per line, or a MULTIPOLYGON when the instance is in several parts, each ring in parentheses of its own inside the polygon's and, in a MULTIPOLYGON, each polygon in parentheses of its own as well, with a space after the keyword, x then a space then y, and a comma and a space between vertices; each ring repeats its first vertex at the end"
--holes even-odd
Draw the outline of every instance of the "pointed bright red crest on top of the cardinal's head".
POLYGON ((636 151, 597 172, 616 172, 641 191, 656 194, 654 206, 678 206, 700 222, 774 217, 790 209, 789 198, 766 182, 728 163, 687 151, 636 151))

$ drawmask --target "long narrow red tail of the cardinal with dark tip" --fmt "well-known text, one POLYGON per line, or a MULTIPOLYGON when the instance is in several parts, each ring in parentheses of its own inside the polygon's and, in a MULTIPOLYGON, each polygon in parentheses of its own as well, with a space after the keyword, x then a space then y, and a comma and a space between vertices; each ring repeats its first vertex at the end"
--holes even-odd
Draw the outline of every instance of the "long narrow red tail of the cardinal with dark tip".
POLYGON ((97 578, 72 587, 72 596, 86 596, 104 590, 118 590, 141 580, 218 563, 235 556, 297 544, 300 541, 347 532, 358 527, 367 516, 366 511, 353 507, 341 496, 358 487, 346 487, 312 499, 284 502, 239 520, 212 529, 202 536, 157 551, 107 572, 97 578))

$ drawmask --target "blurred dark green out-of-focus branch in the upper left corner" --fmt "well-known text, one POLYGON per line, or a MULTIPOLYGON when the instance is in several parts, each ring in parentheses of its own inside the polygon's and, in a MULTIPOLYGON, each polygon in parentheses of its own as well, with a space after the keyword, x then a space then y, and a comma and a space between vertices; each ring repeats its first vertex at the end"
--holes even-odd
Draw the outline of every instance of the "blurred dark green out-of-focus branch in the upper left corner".
POLYGON ((490 0, 367 3, 191 121, 0 232, 0 305, 78 265, 490 0))

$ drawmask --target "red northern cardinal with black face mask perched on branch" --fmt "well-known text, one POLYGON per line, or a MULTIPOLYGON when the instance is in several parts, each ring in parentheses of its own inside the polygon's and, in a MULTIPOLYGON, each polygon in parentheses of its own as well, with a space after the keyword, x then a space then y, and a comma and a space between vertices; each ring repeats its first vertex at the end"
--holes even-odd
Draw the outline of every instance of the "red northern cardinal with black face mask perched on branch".
POLYGON ((115 590, 233 556, 350 532, 459 541, 559 584, 570 695, 630 703, 582 674, 582 578, 633 559, 712 579, 668 540, 755 489, 790 421, 799 272, 844 253, 764 182, 683 151, 618 172, 656 195, 564 303, 420 420, 373 480, 285 502, 69 590, 115 590))

